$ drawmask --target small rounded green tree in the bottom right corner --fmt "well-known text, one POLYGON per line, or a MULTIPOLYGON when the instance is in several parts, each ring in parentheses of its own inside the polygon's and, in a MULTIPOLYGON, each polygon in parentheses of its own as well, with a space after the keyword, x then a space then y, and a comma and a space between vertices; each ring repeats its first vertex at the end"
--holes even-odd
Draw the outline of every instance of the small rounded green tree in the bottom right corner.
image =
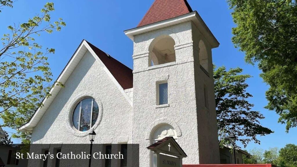
POLYGON ((297 167, 297 145, 287 144, 280 149, 277 165, 280 167, 297 167))

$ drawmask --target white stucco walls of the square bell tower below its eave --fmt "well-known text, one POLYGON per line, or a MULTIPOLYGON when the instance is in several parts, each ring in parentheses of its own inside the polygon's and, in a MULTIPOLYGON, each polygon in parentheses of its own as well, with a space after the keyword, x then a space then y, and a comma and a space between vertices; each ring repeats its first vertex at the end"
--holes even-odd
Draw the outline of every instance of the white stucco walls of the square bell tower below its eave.
MULTIPOLYGON (((196 30, 193 30, 192 23, 187 22, 134 37, 133 143, 140 144, 140 166, 149 167, 150 164, 150 153, 146 147, 151 141, 147 134, 162 124, 169 124, 180 132, 178 143, 188 155, 183 164, 219 163, 219 148, 214 148, 218 147, 217 132, 214 132, 214 106, 207 112, 201 107, 204 105, 201 86, 203 83, 213 82, 213 79, 204 78, 203 71, 196 69, 199 59, 194 58, 193 40, 196 39, 193 36, 200 34, 193 31, 196 30), (160 36, 170 36, 175 40, 176 62, 160 68, 148 67, 150 44, 160 36), (169 105, 158 107, 157 82, 166 80, 169 105), (209 135, 210 131, 214 134, 209 135), (145 133, 146 140, 139 137, 145 133), (207 145, 204 146, 205 144, 207 145), (214 146, 209 146, 210 144, 214 146)), ((213 83, 208 89, 209 105, 214 105, 214 91, 211 90, 213 83)))

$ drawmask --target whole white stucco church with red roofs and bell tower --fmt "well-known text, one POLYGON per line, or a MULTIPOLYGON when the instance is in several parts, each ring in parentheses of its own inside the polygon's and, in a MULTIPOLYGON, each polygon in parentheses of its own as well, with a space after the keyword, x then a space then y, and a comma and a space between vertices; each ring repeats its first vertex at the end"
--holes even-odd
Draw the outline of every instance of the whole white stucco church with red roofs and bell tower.
POLYGON ((57 79, 65 87, 54 87, 20 130, 32 143, 79 144, 94 129, 95 144, 139 144, 141 167, 154 166, 146 147, 172 136, 184 164, 219 163, 211 55, 219 42, 202 18, 186 0, 155 0, 125 34, 133 71, 83 40, 57 79))

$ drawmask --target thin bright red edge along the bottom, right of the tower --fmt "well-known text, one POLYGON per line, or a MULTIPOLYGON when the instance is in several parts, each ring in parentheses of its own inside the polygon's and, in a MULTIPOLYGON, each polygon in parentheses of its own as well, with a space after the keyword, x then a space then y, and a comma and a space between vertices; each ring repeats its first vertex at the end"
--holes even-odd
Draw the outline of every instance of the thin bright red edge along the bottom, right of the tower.
POLYGON ((273 164, 199 164, 199 165, 183 165, 183 167, 277 167, 273 164))

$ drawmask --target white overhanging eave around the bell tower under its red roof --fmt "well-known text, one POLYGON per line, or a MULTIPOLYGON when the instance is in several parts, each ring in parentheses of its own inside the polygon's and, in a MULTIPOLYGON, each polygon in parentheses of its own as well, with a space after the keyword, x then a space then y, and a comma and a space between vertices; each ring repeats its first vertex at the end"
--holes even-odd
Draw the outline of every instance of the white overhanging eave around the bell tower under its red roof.
POLYGON ((158 21, 156 23, 151 23, 151 24, 136 27, 133 29, 128 29, 128 30, 125 30, 124 33, 127 35, 127 37, 129 37, 133 41, 135 35, 153 31, 156 29, 161 29, 161 28, 168 27, 168 26, 173 26, 173 25, 188 22, 188 21, 192 21, 203 34, 207 35, 206 39, 211 44, 212 48, 219 47, 218 40, 211 33, 211 31, 206 26, 206 24, 204 23, 204 21, 202 20, 202 18, 200 17, 200 15, 198 14, 197 11, 190 12, 190 13, 187 13, 184 15, 180 15, 175 18, 158 21))

